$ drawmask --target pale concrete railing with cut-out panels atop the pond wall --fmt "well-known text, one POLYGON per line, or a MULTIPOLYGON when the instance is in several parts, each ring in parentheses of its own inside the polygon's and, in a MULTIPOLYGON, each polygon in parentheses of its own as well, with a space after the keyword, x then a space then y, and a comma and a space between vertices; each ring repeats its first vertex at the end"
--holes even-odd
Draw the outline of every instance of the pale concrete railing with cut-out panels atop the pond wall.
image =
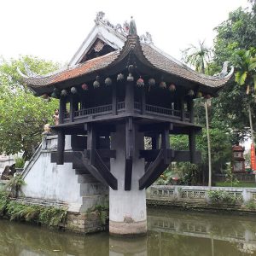
POLYGON ((238 201, 256 201, 256 188, 208 187, 203 186, 171 186, 152 185, 147 189, 147 199, 160 201, 205 201, 209 202, 209 190, 226 191, 238 201))

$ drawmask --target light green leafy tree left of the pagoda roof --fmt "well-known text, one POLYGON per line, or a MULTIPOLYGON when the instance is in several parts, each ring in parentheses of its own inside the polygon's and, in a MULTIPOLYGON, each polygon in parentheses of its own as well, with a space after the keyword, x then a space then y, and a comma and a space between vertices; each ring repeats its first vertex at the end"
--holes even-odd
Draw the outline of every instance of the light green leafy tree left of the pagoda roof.
POLYGON ((46 102, 33 96, 21 81, 17 67, 24 73, 28 66, 32 72, 44 74, 55 70, 57 65, 30 56, 0 63, 0 154, 22 151, 28 160, 41 140, 44 125, 52 123, 57 101, 46 102))

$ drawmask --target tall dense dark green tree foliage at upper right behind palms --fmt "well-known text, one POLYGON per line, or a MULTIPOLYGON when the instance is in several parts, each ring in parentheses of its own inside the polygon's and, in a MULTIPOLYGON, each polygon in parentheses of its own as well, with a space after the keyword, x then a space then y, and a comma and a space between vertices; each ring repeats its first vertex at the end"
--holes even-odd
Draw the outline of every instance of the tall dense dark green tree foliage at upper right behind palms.
MULTIPOLYGON (((216 27, 217 36, 214 40, 214 67, 218 72, 224 61, 236 67, 236 80, 231 79, 229 84, 220 91, 212 106, 212 119, 218 127, 229 131, 233 143, 239 143, 247 137, 249 121, 247 107, 251 102, 252 112, 256 111, 256 104, 252 97, 247 95, 248 70, 253 66, 247 58, 248 51, 256 45, 256 5, 252 9, 236 9, 230 13, 229 19, 216 27)), ((252 55, 253 57, 253 55, 252 55)), ((255 125, 255 120, 254 124, 255 125)))

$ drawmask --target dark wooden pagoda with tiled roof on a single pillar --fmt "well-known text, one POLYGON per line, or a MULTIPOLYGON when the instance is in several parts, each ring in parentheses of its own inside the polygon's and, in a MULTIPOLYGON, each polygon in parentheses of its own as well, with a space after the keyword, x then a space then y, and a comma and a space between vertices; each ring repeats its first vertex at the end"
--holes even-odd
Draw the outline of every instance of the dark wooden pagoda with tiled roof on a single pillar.
POLYGON ((166 167, 200 161, 193 100, 216 96, 231 75, 196 73, 156 48, 149 34, 139 38, 134 20, 114 27, 99 13, 66 69, 23 79, 36 96, 60 100, 51 161, 72 162, 108 185, 109 231, 128 235, 147 231, 146 189, 166 167), (177 134, 188 135, 189 151, 172 149, 177 134))

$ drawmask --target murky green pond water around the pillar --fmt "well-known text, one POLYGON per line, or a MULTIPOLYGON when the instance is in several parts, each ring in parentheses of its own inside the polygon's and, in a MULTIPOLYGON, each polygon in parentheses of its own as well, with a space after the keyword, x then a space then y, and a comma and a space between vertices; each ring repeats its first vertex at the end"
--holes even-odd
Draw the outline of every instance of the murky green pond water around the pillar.
POLYGON ((148 235, 78 236, 0 220, 1 256, 256 255, 256 216, 148 210, 148 235))

